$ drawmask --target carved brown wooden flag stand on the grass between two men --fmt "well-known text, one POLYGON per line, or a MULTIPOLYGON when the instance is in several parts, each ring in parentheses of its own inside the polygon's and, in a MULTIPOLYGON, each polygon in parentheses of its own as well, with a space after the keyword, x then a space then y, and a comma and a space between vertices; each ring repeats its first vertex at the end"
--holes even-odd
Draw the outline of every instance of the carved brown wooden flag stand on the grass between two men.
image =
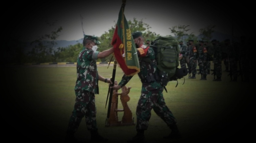
MULTIPOLYGON (((115 80, 114 85, 117 85, 115 80)), ((128 93, 131 87, 126 88, 123 86, 122 93, 117 93, 117 90, 113 90, 111 108, 109 119, 106 120, 105 127, 110 126, 124 126, 124 125, 135 125, 134 117, 132 117, 132 111, 130 110, 127 102, 130 100, 128 93), (122 102, 123 109, 118 109, 118 96, 120 96, 120 101, 122 102), (117 112, 124 112, 122 120, 119 121, 117 112)))

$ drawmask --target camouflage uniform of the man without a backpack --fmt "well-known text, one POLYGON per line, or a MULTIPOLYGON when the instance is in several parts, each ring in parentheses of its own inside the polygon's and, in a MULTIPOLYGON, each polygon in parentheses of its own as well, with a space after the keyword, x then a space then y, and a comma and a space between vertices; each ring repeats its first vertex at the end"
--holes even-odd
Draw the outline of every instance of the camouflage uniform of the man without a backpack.
POLYGON ((68 130, 76 132, 82 118, 88 130, 97 130, 95 94, 99 94, 96 60, 99 52, 83 47, 77 58, 77 81, 75 83, 75 106, 70 117, 68 130))

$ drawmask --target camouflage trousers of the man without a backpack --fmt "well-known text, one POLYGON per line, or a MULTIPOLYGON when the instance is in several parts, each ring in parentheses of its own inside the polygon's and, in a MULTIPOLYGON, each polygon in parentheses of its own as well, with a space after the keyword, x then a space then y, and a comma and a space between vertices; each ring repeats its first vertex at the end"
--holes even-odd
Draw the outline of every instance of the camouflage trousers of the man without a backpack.
POLYGON ((75 106, 69 120, 68 131, 76 132, 82 118, 88 130, 97 130, 95 95, 85 90, 75 90, 75 106))

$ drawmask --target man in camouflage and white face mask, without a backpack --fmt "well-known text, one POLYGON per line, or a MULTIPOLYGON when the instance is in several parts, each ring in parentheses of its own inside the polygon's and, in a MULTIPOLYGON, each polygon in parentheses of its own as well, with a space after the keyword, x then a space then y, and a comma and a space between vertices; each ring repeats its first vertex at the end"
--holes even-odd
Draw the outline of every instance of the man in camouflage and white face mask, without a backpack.
POLYGON ((97 132, 95 94, 99 94, 98 81, 112 83, 109 78, 104 78, 98 74, 96 60, 109 56, 114 52, 114 48, 96 51, 97 44, 100 44, 97 37, 85 35, 83 49, 77 57, 77 81, 75 83, 75 105, 69 120, 66 142, 76 142, 74 133, 80 125, 83 117, 90 130, 91 141, 107 141, 97 132))

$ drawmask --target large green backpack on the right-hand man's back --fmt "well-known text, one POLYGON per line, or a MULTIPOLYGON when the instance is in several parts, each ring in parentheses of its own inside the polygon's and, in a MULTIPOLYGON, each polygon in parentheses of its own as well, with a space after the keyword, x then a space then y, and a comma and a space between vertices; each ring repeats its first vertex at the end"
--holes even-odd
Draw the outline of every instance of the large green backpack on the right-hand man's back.
POLYGON ((178 42, 174 37, 158 36, 151 42, 150 46, 156 54, 157 68, 163 86, 166 86, 169 81, 187 75, 186 68, 178 68, 180 51, 178 42))

